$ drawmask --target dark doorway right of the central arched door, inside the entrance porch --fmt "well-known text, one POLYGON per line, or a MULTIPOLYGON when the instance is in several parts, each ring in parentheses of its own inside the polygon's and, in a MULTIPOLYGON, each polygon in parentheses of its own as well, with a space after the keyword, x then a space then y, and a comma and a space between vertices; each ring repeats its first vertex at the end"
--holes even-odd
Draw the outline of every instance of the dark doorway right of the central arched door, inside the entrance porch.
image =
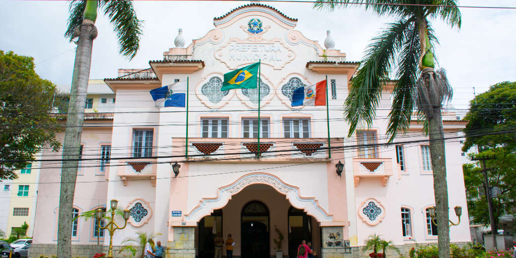
POLYGON ((288 209, 288 256, 296 258, 297 247, 302 240, 312 242, 312 217, 302 209, 290 207, 288 209))

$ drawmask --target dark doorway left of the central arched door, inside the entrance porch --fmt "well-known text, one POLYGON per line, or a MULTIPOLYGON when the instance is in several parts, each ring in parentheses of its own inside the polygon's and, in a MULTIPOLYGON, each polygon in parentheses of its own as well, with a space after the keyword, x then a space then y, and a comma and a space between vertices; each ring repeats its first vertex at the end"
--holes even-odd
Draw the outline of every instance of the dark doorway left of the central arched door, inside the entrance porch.
POLYGON ((222 236, 221 209, 216 209, 211 215, 199 221, 199 258, 213 258, 215 255, 213 240, 217 234, 222 236))

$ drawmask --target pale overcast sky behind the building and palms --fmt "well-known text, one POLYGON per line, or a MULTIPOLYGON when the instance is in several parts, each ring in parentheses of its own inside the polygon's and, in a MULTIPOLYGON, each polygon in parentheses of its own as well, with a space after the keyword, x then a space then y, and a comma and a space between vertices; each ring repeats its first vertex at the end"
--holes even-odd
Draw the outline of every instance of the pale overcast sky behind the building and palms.
MULTIPOLYGON (((117 76, 119 68, 149 68, 149 60, 163 59, 174 47, 178 28, 183 28, 186 45, 214 28, 213 18, 249 2, 136 1, 138 18, 144 21, 140 50, 128 61, 118 53, 116 35, 102 13, 93 42, 90 78, 117 76)), ((320 44, 331 30, 335 48, 359 61, 369 40, 389 18, 361 8, 317 11, 306 3, 268 3, 285 15, 297 18, 296 29, 320 44)), ((461 1, 464 6, 516 6, 515 0, 461 1)), ((63 37, 69 15, 68 1, 3 0, 0 8, 0 50, 33 56, 36 72, 53 83, 70 84, 75 44, 63 37)), ((516 9, 461 8, 462 28, 451 29, 433 21, 440 45, 436 47, 440 67, 447 70, 454 87, 453 104, 467 108, 473 89, 480 93, 497 82, 516 81, 516 9)))

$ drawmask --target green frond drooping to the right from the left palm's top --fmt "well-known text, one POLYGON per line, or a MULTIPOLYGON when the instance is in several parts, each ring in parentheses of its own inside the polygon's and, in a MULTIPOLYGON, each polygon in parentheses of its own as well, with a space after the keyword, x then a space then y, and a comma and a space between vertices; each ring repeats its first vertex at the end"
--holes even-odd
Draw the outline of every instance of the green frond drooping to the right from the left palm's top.
POLYGON ((120 54, 130 60, 138 52, 140 46, 143 21, 138 20, 132 1, 118 0, 101 2, 110 22, 114 25, 120 45, 120 54))

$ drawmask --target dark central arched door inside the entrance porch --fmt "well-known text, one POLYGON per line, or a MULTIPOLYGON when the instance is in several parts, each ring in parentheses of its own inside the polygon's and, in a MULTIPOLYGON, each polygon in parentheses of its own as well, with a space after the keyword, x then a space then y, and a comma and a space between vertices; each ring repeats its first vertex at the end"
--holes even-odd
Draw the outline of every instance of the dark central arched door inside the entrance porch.
POLYGON ((269 209, 260 201, 250 201, 241 212, 241 257, 269 257, 269 209))

